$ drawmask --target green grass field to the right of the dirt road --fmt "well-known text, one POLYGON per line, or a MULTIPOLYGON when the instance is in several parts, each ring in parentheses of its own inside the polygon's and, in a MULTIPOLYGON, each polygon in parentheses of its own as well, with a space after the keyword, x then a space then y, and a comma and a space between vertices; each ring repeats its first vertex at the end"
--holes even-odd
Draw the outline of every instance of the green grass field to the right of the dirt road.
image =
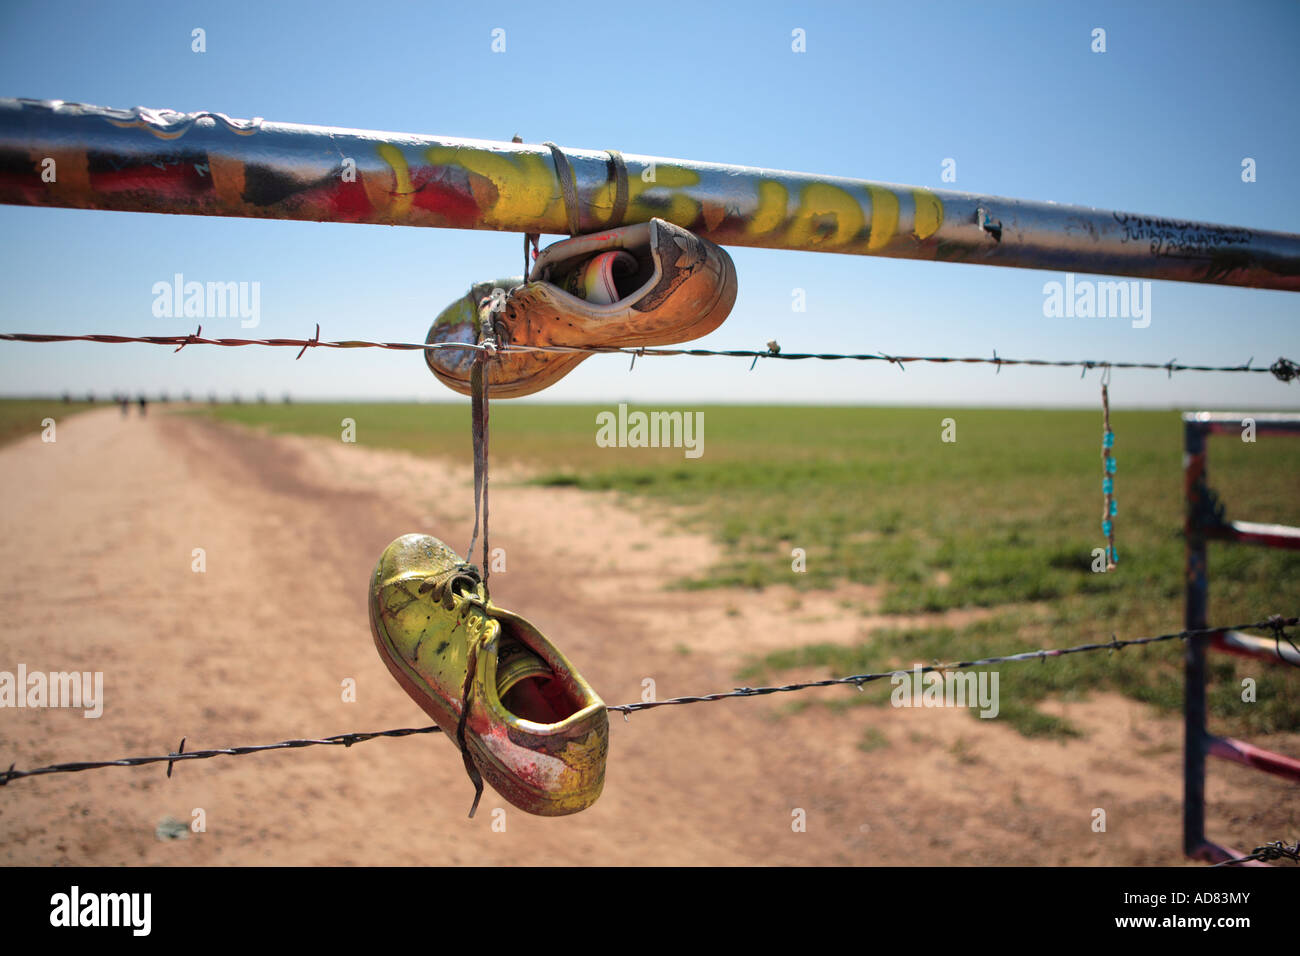
MULTIPOLYGON (((494 462, 525 462, 541 485, 611 489, 640 507, 673 506, 724 545, 706 576, 677 588, 837 581, 883 585, 888 613, 992 607, 968 627, 878 632, 861 646, 802 648, 740 675, 777 679, 824 665, 836 674, 1176 631, 1182 626, 1182 428, 1175 412, 1115 412, 1119 568, 1092 571, 1104 546, 1098 411, 706 406, 703 455, 595 445, 595 406, 491 410, 494 462), (957 441, 941 441, 956 420, 957 441), (792 571, 792 549, 806 574, 792 571)), ((636 411, 636 407, 632 408, 636 411)), ((694 411, 694 410, 693 410, 694 411)), ((205 410, 226 421, 469 463, 467 405, 244 405, 205 410)), ((1210 442, 1210 480, 1230 518, 1300 524, 1300 441, 1210 442)), ((500 486, 494 483, 494 486, 500 486)), ((499 494, 508 494, 500 490, 499 494)), ((1300 554, 1212 545, 1210 619, 1300 610, 1300 554)), ((866 607, 861 607, 866 613, 866 607)), ((1089 688, 1182 706, 1180 644, 1086 654, 1002 671, 1004 717, 1028 734, 1072 732, 1034 702, 1089 688)), ((1227 728, 1300 730, 1297 675, 1212 656, 1212 705, 1227 728), (1240 700, 1256 678, 1258 701, 1240 700)), ((888 700, 888 683, 854 696, 888 700)))

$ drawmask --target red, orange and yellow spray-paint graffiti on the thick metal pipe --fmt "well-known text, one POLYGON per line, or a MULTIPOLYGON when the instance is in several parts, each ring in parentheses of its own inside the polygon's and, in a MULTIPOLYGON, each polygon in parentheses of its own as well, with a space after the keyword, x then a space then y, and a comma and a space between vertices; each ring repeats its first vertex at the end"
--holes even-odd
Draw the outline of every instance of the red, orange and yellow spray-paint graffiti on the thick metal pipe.
MULTIPOLYGON (((252 135, 261 120, 231 120, 224 113, 169 109, 110 109, 60 100, 21 100, 25 109, 100 120, 117 129, 140 129, 143 142, 177 140, 191 130, 225 129, 252 135)), ((554 160, 547 152, 482 144, 376 140, 351 131, 329 131, 334 163, 259 163, 220 139, 186 138, 185 146, 139 148, 94 134, 87 142, 57 150, 58 179, 40 178, 43 156, 0 156, 0 189, 21 202, 186 211, 342 222, 385 222, 451 228, 520 229, 546 224, 563 232, 566 213, 554 160), (348 153, 351 153, 348 156, 348 153), (343 177, 346 159, 355 176, 343 177), (333 166, 333 168, 332 168, 333 166)), ((590 170, 590 166, 588 166, 590 170)), ((807 181, 750 172, 702 183, 701 172, 675 163, 629 170, 628 199, 620 222, 616 179, 610 165, 603 181, 585 179, 581 199, 588 230, 659 217, 719 242, 832 252, 880 252, 890 243, 915 246, 944 222, 942 200, 927 189, 807 181)), ((12 199, 9 202, 13 202, 12 199)))

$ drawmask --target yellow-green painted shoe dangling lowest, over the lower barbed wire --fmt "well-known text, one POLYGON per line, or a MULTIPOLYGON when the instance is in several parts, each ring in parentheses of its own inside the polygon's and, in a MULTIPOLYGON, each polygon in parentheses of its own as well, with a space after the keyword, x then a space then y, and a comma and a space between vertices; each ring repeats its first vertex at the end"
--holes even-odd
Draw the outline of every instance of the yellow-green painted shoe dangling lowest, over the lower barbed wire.
POLYGON ((488 600, 473 564, 436 537, 403 535, 374 568, 369 605, 380 657, 463 741, 472 778, 477 770, 543 817, 595 803, 610 744, 604 702, 536 627, 488 600))

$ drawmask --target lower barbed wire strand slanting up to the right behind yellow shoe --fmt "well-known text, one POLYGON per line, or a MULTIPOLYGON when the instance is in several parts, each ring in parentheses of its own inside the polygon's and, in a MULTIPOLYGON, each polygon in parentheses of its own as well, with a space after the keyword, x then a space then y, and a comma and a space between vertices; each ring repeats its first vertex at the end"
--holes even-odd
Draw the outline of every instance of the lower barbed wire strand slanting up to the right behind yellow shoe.
MULTIPOLYGON (((814 687, 835 687, 838 684, 855 684, 858 689, 862 689, 863 684, 868 684, 874 680, 881 680, 884 678, 892 678, 894 675, 910 676, 911 674, 928 674, 931 671, 956 671, 956 670, 968 670, 971 667, 983 667, 993 663, 1017 663, 1023 661, 1045 661, 1049 657, 1065 657, 1066 654, 1082 654, 1093 650, 1122 650, 1123 648, 1139 646, 1144 644, 1160 644, 1164 641, 1174 640, 1190 640, 1192 637, 1210 637, 1218 633, 1227 633, 1228 631, 1273 631, 1273 633, 1280 640, 1286 639, 1284 628, 1295 627, 1300 624, 1300 617, 1284 618, 1280 614, 1273 614, 1262 620, 1257 620, 1252 624, 1231 624, 1225 627, 1204 627, 1187 631, 1176 631, 1171 633, 1156 635, 1152 637, 1132 637, 1127 640, 1119 640, 1112 635, 1109 641, 1091 643, 1091 644, 1076 644, 1070 648, 1044 648, 1040 650, 1027 650, 1018 654, 1005 654, 1001 657, 983 657, 974 661, 954 661, 950 663, 931 663, 923 667, 913 667, 909 670, 889 670, 880 671, 875 674, 854 674, 846 678, 828 678, 826 680, 805 680, 794 684, 781 684, 777 687, 737 687, 732 691, 725 691, 722 693, 710 693, 697 697, 670 697, 662 701, 638 701, 636 704, 614 704, 606 708, 610 713, 621 713, 624 719, 637 711, 637 710, 650 710, 653 708, 666 708, 666 706, 680 706, 685 704, 705 704, 708 701, 727 700, 731 697, 760 697, 771 693, 789 693, 794 691, 806 691, 814 687)), ((1280 657, 1280 653, 1279 653, 1280 657)), ((254 744, 247 747, 226 747, 213 750, 190 750, 185 752, 186 739, 181 739, 181 745, 173 753, 151 756, 151 757, 121 757, 118 760, 99 760, 99 761, 74 761, 69 763, 51 763, 43 767, 34 767, 31 770, 17 770, 14 765, 10 763, 8 770, 0 771, 0 787, 8 784, 10 780, 18 780, 23 777, 40 777, 44 774, 70 774, 82 770, 101 770, 104 767, 134 767, 143 766, 147 763, 166 763, 168 777, 172 775, 172 767, 181 761, 187 760, 209 760, 212 757, 243 757, 251 753, 264 753, 266 750, 291 750, 302 749, 306 747, 351 747, 352 744, 360 744, 367 740, 374 740, 376 737, 406 737, 417 734, 439 734, 442 732, 437 726, 429 727, 403 727, 400 730, 382 730, 382 731, 368 731, 356 734, 335 734, 328 737, 303 737, 295 740, 281 740, 274 744, 254 744)))

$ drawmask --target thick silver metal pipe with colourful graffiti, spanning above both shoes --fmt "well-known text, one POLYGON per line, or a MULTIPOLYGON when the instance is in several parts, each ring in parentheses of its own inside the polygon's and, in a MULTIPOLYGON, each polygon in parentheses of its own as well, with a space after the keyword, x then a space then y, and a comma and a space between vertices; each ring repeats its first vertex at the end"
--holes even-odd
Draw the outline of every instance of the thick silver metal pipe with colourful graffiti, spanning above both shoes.
POLYGON ((1300 235, 599 150, 0 99, 0 203, 517 233, 659 217, 731 246, 1300 291, 1300 235))

